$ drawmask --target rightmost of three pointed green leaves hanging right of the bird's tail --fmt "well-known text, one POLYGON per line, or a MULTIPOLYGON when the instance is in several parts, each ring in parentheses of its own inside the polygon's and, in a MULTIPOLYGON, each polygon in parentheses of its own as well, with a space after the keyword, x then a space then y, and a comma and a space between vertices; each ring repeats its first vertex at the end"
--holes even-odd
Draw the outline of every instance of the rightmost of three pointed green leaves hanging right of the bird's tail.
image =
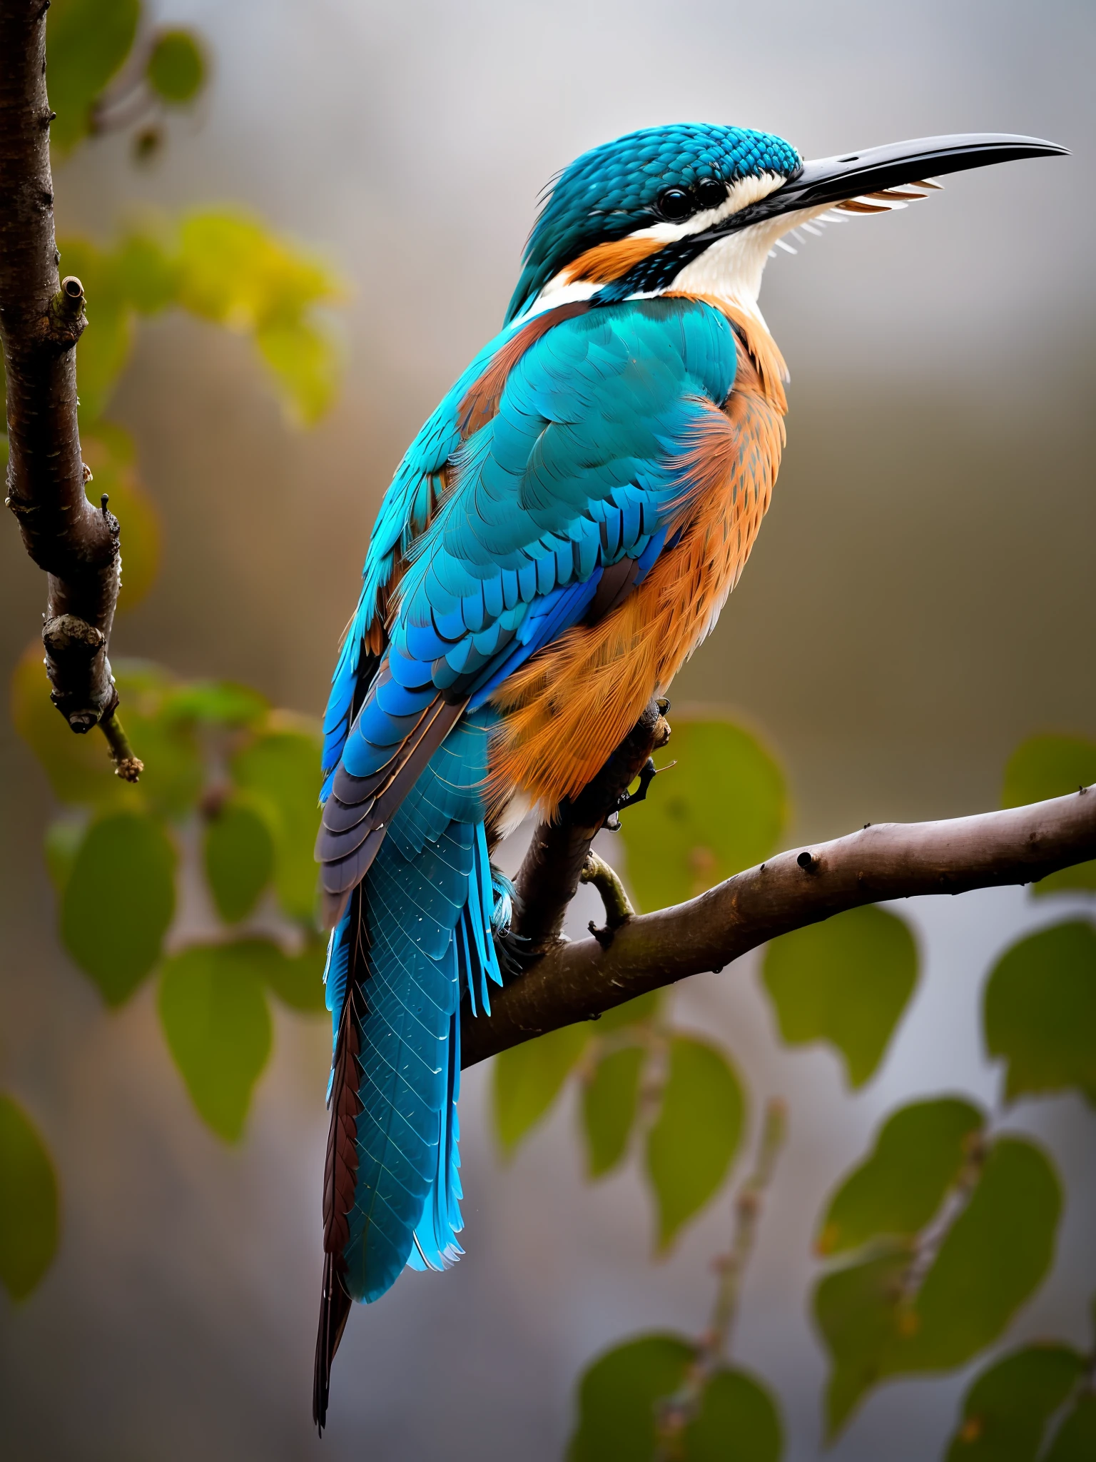
POLYGON ((742 1136, 744 1111, 741 1083, 722 1051, 675 1035, 662 1108, 647 1133, 661 1250, 722 1186, 742 1136))

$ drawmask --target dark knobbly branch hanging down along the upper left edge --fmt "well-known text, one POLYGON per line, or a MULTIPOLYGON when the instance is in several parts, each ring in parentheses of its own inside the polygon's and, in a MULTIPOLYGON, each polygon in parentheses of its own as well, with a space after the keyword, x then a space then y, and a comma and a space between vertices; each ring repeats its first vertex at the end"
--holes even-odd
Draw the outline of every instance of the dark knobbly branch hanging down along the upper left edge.
MULTIPOLYGON (((0 336, 7 373, 6 503, 48 575, 42 626, 53 702, 73 731, 118 703, 107 646, 118 599, 118 522, 88 501, 76 421, 83 287, 58 281, 45 95, 48 0, 0 0, 0 336)), ((115 750, 118 734, 110 740, 115 750)), ((136 779, 134 757, 120 775, 136 779)), ((117 762, 117 756, 115 756, 117 762)))

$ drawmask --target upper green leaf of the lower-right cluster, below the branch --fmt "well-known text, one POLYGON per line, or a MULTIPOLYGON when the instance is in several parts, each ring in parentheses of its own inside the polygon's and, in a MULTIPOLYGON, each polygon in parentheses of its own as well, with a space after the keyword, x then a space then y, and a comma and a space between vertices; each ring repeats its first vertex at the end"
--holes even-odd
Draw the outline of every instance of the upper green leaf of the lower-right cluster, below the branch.
POLYGON ((836 1254, 878 1237, 912 1237, 956 1183, 985 1116, 954 1096, 912 1102, 880 1129, 871 1155, 842 1183, 815 1249, 836 1254))

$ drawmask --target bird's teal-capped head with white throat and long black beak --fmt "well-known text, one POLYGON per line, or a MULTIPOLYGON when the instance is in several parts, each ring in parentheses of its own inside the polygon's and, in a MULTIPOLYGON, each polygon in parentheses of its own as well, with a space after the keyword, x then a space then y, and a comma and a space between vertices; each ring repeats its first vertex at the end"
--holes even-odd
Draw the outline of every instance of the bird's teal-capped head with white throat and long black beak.
POLYGON ((921 137, 804 162, 767 132, 685 123, 585 152, 554 181, 525 250, 507 320, 570 300, 668 289, 757 313, 761 272, 785 234, 830 213, 878 213, 924 197, 944 173, 1064 154, 1038 137, 921 137))

